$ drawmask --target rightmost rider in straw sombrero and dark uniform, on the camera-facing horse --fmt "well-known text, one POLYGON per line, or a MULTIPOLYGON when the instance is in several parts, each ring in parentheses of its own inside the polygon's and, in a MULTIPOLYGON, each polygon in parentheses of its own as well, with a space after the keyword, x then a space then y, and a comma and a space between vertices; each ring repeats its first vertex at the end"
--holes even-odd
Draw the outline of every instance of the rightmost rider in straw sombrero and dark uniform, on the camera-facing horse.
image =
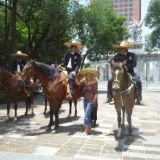
MULTIPOLYGON (((126 61, 127 71, 134 77, 136 81, 136 87, 137 87, 136 104, 141 105, 142 104, 141 102, 142 101, 142 83, 139 76, 137 76, 136 73, 134 72, 134 67, 136 67, 137 65, 136 54, 128 51, 128 48, 130 48, 131 45, 127 41, 122 41, 120 45, 114 45, 113 47, 118 49, 118 53, 113 57, 113 60, 115 62, 126 61)), ((112 80, 110 79, 108 81, 106 103, 109 103, 111 101, 112 101, 112 80)))

